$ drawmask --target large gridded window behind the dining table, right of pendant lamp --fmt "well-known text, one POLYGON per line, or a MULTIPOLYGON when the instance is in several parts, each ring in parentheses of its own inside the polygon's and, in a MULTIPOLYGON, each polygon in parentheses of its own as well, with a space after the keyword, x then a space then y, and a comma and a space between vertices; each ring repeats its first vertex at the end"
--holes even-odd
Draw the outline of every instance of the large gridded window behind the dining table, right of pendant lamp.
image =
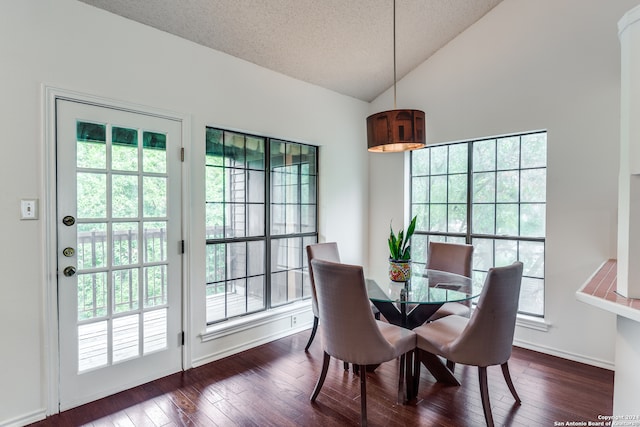
POLYGON ((546 132, 413 151, 414 268, 424 268, 429 241, 473 244, 474 283, 520 260, 519 312, 543 316, 546 159, 546 132))

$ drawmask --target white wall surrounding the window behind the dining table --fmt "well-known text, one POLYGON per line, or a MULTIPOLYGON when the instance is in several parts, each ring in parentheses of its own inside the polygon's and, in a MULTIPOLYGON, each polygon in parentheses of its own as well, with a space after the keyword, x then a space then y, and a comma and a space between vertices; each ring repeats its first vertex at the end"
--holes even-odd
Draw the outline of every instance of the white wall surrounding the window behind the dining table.
MULTIPOLYGON (((519 327, 516 342, 610 368, 615 316, 574 295, 616 255, 617 22, 637 4, 504 0, 398 84, 398 107, 426 112, 431 143, 548 130, 545 320, 550 327, 547 332, 519 327)), ((377 99, 370 112, 388 109, 390 96, 377 99)), ((402 157, 369 155, 373 275, 384 274, 389 219, 401 221, 406 212, 400 192, 378 191, 401 188, 402 157)))

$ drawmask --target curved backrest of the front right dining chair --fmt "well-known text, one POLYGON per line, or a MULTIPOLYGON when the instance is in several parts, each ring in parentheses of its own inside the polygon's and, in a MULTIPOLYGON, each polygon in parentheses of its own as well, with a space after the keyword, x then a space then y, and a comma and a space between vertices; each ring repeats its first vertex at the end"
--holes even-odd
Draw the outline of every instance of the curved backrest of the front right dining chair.
POLYGON ((462 333, 450 343, 457 363, 501 365, 511 357, 522 283, 521 262, 490 268, 476 309, 462 333))

